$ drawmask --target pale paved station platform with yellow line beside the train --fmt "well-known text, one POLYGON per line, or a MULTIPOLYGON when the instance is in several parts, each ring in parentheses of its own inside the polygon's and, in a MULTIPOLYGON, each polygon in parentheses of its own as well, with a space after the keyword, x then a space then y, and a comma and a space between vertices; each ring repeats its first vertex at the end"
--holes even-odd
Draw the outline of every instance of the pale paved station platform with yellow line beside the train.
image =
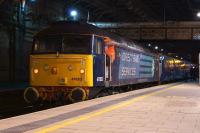
POLYGON ((0 133, 199 133, 200 86, 172 83, 0 120, 0 133))

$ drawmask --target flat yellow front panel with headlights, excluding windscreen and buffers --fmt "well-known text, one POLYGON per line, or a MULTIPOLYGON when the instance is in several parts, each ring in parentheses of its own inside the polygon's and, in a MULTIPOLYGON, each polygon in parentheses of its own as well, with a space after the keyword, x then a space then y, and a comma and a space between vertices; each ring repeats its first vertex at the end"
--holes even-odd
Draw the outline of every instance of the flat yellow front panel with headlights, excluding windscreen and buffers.
POLYGON ((93 86, 92 55, 32 55, 31 86, 93 86))

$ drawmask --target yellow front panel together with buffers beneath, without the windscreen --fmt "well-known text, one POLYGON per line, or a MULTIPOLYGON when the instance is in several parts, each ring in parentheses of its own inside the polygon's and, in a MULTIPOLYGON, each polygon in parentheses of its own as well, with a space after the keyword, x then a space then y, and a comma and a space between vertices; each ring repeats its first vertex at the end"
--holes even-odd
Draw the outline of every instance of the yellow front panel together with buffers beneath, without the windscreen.
POLYGON ((93 87, 93 56, 44 54, 30 57, 30 85, 24 99, 34 103, 63 96, 72 102, 87 99, 93 87))

